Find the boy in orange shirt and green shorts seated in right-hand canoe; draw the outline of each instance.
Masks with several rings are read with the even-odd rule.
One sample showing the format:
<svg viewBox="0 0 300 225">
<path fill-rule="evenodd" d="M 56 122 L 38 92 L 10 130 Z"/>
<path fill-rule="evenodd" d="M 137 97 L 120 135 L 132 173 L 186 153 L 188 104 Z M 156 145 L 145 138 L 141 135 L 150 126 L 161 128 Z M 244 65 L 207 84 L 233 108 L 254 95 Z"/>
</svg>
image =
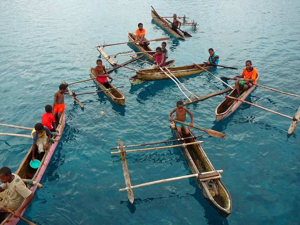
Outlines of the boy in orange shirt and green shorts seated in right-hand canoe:
<svg viewBox="0 0 300 225">
<path fill-rule="evenodd" d="M 245 65 L 246 67 L 244 68 L 242 75 L 232 77 L 233 80 L 235 80 L 237 77 L 243 78 L 243 80 L 236 80 L 234 83 L 236 91 L 238 92 L 238 96 L 241 96 L 240 85 L 243 88 L 242 92 L 246 91 L 248 88 L 253 86 L 253 82 L 257 76 L 257 71 L 254 67 L 252 67 L 252 62 L 250 60 L 247 60 Z"/>
</svg>

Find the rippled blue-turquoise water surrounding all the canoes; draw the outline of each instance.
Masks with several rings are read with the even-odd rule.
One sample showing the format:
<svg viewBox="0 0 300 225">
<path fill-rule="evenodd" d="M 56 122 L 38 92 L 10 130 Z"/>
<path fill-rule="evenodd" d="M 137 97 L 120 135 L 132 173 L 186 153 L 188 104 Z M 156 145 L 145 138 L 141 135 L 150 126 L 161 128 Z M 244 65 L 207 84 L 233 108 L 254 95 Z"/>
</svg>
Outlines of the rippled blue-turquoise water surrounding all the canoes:
<svg viewBox="0 0 300 225">
<path fill-rule="evenodd" d="M 152 1 L 161 16 L 186 13 L 198 28 L 183 27 L 193 37 L 167 41 L 169 58 L 176 66 L 208 58 L 208 48 L 220 55 L 216 76 L 239 75 L 250 59 L 261 75 L 259 83 L 299 94 L 299 1 Z M 140 3 L 134 2 L 137 6 Z M 131 1 L 1 1 L 0 81 L 1 123 L 33 127 L 44 106 L 52 104 L 61 80 L 68 83 L 89 78 L 95 66 L 97 43 L 125 42 L 143 22 L 146 37 L 168 37 L 151 18 L 150 3 L 137 10 Z M 208 7 L 209 6 L 209 7 Z M 155 49 L 161 43 L 152 42 Z M 107 46 L 108 54 L 131 52 L 129 45 Z M 119 62 L 128 56 L 119 57 Z M 290 64 L 289 64 L 290 63 Z M 110 65 L 105 63 L 106 67 Z M 143 62 L 128 65 L 148 67 Z M 44 188 L 24 217 L 38 224 L 299 224 L 299 134 L 287 135 L 290 119 L 242 104 L 230 117 L 215 122 L 216 96 L 187 106 L 194 125 L 227 134 L 225 139 L 203 134 L 202 144 L 232 197 L 232 214 L 221 217 L 205 201 L 194 179 L 134 189 L 128 203 L 122 166 L 110 148 L 118 138 L 125 145 L 172 140 L 168 113 L 184 100 L 169 80 L 131 86 L 134 71 L 111 73 L 113 85 L 124 85 L 125 107 L 102 93 L 78 96 L 82 110 L 65 96 L 66 127 L 43 176 Z M 207 73 L 181 79 L 192 92 L 206 95 L 223 89 Z M 76 93 L 97 91 L 94 82 L 70 86 Z M 293 116 L 298 98 L 257 87 L 247 101 Z M 101 114 L 104 111 L 104 114 Z M 1 132 L 28 134 L 1 127 Z M 31 146 L 30 139 L 0 137 L 0 166 L 13 171 Z M 127 155 L 131 183 L 190 174 L 179 148 Z M 20 221 L 19 224 L 26 224 Z"/>
</svg>

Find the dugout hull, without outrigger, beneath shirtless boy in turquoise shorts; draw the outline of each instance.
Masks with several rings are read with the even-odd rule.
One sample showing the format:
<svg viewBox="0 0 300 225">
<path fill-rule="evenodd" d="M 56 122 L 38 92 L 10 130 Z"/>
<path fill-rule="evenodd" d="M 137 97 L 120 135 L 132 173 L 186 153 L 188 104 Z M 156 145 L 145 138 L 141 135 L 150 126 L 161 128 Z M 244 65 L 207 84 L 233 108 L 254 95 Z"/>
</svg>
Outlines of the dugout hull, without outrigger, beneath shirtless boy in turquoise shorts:
<svg viewBox="0 0 300 225">
<path fill-rule="evenodd" d="M 174 117 L 176 119 L 176 117 Z M 172 123 L 174 135 L 177 139 L 181 138 Z M 190 130 L 190 129 L 189 129 Z M 183 132 L 184 133 L 184 132 Z M 195 136 L 190 130 L 187 137 Z M 186 139 L 186 143 L 196 142 L 196 138 Z M 178 141 L 179 144 L 183 144 L 182 140 Z M 187 162 L 188 167 L 192 174 L 203 173 L 209 171 L 215 171 L 213 165 L 209 161 L 200 144 L 193 144 L 180 147 L 182 154 Z M 231 196 L 226 189 L 225 185 L 220 180 L 220 176 L 216 176 L 211 180 L 201 181 L 199 176 L 194 177 L 200 191 L 202 192 L 205 200 L 223 217 L 228 217 L 231 214 L 232 200 Z"/>
</svg>

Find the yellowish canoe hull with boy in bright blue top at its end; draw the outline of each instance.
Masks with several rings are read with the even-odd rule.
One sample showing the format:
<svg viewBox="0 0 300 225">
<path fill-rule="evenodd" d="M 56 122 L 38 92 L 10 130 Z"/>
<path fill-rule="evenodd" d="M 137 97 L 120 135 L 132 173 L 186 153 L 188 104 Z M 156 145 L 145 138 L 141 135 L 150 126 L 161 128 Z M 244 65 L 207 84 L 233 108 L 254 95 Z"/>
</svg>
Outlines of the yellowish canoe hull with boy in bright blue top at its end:
<svg viewBox="0 0 300 225">
<path fill-rule="evenodd" d="M 202 64 L 198 64 L 199 66 L 203 67 Z M 204 67 L 206 70 L 210 69 L 211 66 Z M 200 69 L 199 67 L 196 67 L 195 65 L 187 65 L 187 66 L 175 66 L 175 67 L 169 67 L 168 68 L 174 76 L 183 77 L 183 76 L 189 76 L 195 73 L 203 72 L 204 70 Z M 168 71 L 164 69 L 166 73 Z M 165 73 L 163 73 L 160 69 L 143 69 L 137 71 L 137 77 L 140 80 L 163 80 L 163 79 L 170 79 Z"/>
</svg>

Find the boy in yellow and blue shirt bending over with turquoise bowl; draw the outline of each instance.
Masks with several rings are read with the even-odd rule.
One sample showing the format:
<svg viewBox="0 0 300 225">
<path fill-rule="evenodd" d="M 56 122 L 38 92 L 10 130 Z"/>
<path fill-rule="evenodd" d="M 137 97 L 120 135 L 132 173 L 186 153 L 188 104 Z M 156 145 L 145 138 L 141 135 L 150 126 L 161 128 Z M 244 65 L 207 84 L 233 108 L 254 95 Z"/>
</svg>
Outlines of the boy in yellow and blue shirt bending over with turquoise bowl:
<svg viewBox="0 0 300 225">
<path fill-rule="evenodd" d="M 41 161 L 44 156 L 45 150 L 48 150 L 49 148 L 51 132 L 42 123 L 37 123 L 35 124 L 35 128 L 31 132 L 31 137 L 33 139 L 33 143 L 31 146 L 32 160 L 35 160 L 35 148 L 38 146 L 38 158 L 39 161 Z"/>
</svg>

